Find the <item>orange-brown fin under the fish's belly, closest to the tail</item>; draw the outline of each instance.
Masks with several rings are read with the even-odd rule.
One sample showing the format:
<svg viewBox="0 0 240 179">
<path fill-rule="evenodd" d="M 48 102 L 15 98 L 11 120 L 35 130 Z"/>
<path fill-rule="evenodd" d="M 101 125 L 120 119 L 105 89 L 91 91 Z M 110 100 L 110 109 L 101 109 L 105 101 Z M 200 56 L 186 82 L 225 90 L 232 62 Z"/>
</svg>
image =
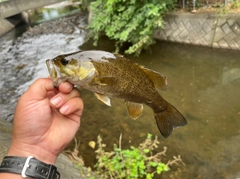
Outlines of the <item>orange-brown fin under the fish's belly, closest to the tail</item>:
<svg viewBox="0 0 240 179">
<path fill-rule="evenodd" d="M 137 119 L 141 116 L 143 111 L 143 105 L 139 103 L 126 101 L 126 106 L 128 108 L 128 113 L 133 119 Z"/>
</svg>

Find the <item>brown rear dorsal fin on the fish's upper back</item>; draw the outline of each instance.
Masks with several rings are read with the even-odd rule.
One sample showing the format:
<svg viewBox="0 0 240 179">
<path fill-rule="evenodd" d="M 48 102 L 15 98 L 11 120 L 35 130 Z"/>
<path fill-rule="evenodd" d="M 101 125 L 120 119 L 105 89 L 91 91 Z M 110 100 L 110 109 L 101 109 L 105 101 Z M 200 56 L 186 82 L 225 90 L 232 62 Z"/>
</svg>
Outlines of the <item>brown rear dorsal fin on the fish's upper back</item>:
<svg viewBox="0 0 240 179">
<path fill-rule="evenodd" d="M 150 69 L 141 67 L 142 70 L 151 78 L 155 88 L 160 90 L 167 90 L 167 77 L 161 73 L 152 71 Z"/>
</svg>

